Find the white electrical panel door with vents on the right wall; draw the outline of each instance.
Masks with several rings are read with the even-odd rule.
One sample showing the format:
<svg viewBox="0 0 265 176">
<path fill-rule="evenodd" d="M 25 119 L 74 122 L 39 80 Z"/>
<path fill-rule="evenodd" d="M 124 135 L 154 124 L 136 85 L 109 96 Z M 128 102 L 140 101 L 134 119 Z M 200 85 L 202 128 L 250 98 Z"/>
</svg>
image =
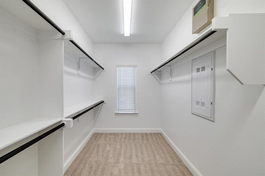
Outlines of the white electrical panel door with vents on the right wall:
<svg viewBox="0 0 265 176">
<path fill-rule="evenodd" d="M 191 113 L 214 121 L 215 52 L 192 61 Z"/>
</svg>

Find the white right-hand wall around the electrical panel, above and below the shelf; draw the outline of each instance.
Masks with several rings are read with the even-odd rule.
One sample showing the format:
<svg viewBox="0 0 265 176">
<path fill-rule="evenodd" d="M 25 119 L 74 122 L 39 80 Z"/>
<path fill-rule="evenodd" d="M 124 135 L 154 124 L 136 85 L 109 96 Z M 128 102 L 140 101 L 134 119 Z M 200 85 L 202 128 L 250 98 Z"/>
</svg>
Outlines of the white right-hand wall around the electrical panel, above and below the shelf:
<svg viewBox="0 0 265 176">
<path fill-rule="evenodd" d="M 191 34 L 191 5 L 162 43 L 163 60 L 198 34 Z M 215 16 L 264 13 L 265 1 L 215 1 Z M 175 66 L 219 48 L 223 40 Z M 191 62 L 162 74 L 161 127 L 203 176 L 265 174 L 264 85 L 241 85 L 226 71 L 226 47 L 216 50 L 215 122 L 191 114 Z"/>
</svg>

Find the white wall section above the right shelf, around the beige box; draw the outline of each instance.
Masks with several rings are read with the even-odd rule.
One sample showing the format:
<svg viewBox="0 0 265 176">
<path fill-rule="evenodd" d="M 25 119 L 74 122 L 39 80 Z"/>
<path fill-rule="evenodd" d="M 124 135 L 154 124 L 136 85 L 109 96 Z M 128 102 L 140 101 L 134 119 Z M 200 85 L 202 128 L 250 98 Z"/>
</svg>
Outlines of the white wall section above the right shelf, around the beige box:
<svg viewBox="0 0 265 176">
<path fill-rule="evenodd" d="M 198 0 L 195 0 L 189 9 L 184 13 L 176 26 L 172 29 L 169 35 L 162 42 L 163 56 L 160 62 L 169 59 L 171 56 L 178 53 L 186 45 L 191 43 L 195 38 L 209 29 L 211 25 L 206 27 L 198 34 L 192 34 L 192 8 Z M 215 0 L 214 1 L 214 17 L 226 16 L 229 13 L 264 13 L 264 0 Z M 159 62 L 157 63 L 159 64 Z"/>
</svg>

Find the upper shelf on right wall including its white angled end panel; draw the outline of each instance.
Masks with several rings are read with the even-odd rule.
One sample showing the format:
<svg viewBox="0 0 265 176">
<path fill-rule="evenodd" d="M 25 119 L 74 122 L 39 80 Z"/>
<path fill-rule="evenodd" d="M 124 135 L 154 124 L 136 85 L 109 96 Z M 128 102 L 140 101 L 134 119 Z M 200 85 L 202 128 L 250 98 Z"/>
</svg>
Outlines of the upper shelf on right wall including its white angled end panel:
<svg viewBox="0 0 265 176">
<path fill-rule="evenodd" d="M 225 36 L 226 70 L 241 84 L 265 84 L 265 13 L 213 18 L 210 29 L 151 73 L 161 71 Z"/>
</svg>

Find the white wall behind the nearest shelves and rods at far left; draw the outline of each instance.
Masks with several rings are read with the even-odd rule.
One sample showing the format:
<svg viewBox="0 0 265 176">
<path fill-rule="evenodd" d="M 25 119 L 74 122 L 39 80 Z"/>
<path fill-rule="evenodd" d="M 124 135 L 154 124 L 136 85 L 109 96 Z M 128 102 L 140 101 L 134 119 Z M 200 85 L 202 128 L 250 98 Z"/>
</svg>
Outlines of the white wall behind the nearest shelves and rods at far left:
<svg viewBox="0 0 265 176">
<path fill-rule="evenodd" d="M 36 29 L 0 6 L 0 129 L 38 116 L 38 40 L 33 34 Z M 0 156 L 35 137 L 0 150 Z M 28 156 L 30 160 L 23 161 Z M 0 164 L 0 175 L 37 174 L 38 144 Z"/>
</svg>

